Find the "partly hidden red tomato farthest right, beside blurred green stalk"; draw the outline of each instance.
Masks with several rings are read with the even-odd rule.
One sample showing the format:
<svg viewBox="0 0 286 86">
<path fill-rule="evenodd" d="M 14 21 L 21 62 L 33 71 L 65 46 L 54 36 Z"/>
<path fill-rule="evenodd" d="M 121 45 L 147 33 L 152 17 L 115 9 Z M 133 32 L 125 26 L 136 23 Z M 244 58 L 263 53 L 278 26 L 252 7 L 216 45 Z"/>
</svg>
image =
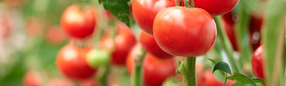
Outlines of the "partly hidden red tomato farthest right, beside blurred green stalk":
<svg viewBox="0 0 286 86">
<path fill-rule="evenodd" d="M 263 58 L 263 47 L 260 45 L 252 55 L 251 67 L 252 72 L 254 72 L 254 76 L 265 79 L 263 75 Z"/>
</svg>

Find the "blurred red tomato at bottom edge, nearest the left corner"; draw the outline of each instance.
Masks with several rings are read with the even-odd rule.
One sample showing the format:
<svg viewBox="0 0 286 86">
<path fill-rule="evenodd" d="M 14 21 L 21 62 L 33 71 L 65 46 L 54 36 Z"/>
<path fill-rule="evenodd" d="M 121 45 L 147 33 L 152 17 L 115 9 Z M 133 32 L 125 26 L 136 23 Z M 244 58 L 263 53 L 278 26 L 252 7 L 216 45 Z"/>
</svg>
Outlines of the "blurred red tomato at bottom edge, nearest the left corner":
<svg viewBox="0 0 286 86">
<path fill-rule="evenodd" d="M 39 72 L 28 71 L 23 77 L 24 86 L 40 86 L 41 85 L 41 75 Z"/>
</svg>

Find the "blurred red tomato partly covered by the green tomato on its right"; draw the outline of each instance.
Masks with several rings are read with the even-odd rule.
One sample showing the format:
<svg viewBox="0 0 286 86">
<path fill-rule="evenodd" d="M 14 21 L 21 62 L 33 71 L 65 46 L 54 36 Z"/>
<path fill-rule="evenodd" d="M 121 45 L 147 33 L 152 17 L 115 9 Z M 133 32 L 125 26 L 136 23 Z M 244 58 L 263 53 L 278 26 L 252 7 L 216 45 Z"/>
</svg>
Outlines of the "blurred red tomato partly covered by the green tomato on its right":
<svg viewBox="0 0 286 86">
<path fill-rule="evenodd" d="M 66 77 L 82 80 L 92 77 L 97 69 L 88 66 L 86 62 L 86 52 L 90 48 L 79 48 L 68 44 L 59 50 L 57 54 L 57 69 Z"/>
</svg>

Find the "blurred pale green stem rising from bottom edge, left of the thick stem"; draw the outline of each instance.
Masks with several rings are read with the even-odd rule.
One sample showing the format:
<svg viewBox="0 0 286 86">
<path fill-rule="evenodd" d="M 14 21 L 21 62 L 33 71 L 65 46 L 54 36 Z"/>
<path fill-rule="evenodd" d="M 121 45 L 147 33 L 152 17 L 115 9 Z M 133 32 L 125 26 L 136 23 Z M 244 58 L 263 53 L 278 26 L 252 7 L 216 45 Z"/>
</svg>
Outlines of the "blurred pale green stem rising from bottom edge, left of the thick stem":
<svg viewBox="0 0 286 86">
<path fill-rule="evenodd" d="M 134 58 L 135 66 L 133 71 L 133 79 L 131 81 L 132 86 L 142 86 L 143 83 L 143 61 L 146 55 L 146 51 L 141 48 L 141 54 Z"/>
</svg>

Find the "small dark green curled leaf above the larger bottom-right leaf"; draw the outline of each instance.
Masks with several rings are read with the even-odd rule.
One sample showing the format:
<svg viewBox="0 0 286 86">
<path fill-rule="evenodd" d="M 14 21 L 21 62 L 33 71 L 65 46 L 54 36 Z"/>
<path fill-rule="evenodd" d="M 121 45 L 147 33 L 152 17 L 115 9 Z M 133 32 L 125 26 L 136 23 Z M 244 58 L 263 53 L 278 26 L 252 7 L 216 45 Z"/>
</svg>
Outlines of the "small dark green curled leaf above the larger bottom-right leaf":
<svg viewBox="0 0 286 86">
<path fill-rule="evenodd" d="M 219 61 L 218 63 L 216 63 L 216 65 L 213 67 L 213 72 L 215 72 L 217 69 L 219 69 L 223 72 L 226 72 L 228 74 L 231 74 L 231 69 L 229 67 L 229 64 L 227 64 L 225 62 Z"/>
</svg>

